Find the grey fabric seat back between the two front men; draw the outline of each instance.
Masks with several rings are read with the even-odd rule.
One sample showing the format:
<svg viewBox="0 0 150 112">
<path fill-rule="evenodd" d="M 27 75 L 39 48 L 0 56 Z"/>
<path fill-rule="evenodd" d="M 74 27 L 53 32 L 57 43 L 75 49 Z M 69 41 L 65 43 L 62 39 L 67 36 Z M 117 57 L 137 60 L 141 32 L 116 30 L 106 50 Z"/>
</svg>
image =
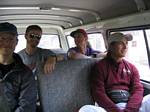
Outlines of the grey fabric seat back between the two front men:
<svg viewBox="0 0 150 112">
<path fill-rule="evenodd" d="M 67 60 L 56 64 L 51 74 L 39 67 L 38 83 L 43 112 L 77 112 L 94 104 L 90 91 L 90 72 L 96 60 Z"/>
</svg>

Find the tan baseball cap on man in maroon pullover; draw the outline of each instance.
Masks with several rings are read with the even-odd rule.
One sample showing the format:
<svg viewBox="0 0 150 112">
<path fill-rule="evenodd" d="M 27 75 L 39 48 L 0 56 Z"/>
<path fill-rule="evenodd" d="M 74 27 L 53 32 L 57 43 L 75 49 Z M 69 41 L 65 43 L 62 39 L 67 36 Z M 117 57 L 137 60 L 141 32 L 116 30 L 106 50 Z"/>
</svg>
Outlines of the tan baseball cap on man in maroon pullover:
<svg viewBox="0 0 150 112">
<path fill-rule="evenodd" d="M 111 44 L 112 42 L 122 41 L 123 39 L 131 41 L 133 37 L 131 34 L 123 34 L 120 32 L 116 32 L 110 35 L 110 37 L 108 38 L 108 44 Z"/>
</svg>

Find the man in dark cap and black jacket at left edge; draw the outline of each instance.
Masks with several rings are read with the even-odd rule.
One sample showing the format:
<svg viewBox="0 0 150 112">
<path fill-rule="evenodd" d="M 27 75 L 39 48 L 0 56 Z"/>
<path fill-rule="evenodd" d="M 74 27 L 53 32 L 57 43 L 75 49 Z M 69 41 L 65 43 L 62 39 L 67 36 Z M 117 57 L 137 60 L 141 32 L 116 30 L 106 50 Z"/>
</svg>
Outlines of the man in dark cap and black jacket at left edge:
<svg viewBox="0 0 150 112">
<path fill-rule="evenodd" d="M 32 71 L 14 53 L 15 25 L 0 23 L 0 112 L 35 112 L 36 83 Z"/>
</svg>

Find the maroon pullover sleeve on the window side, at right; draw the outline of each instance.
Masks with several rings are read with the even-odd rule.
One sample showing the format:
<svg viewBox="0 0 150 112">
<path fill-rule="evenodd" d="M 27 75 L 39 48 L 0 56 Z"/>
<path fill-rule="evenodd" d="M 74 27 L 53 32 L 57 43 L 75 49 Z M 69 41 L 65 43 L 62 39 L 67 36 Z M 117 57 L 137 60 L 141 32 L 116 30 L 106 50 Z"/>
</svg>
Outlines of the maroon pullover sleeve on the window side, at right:
<svg viewBox="0 0 150 112">
<path fill-rule="evenodd" d="M 143 86 L 140 83 L 139 73 L 135 66 L 132 65 L 132 79 L 130 86 L 130 98 L 127 103 L 125 112 L 139 112 L 143 99 Z"/>
</svg>

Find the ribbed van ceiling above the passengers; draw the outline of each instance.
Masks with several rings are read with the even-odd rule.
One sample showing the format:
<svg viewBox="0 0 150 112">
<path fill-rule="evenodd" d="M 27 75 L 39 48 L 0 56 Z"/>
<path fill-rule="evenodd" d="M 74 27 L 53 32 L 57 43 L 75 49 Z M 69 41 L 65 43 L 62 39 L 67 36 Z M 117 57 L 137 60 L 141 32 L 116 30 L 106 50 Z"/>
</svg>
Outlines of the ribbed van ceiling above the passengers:
<svg viewBox="0 0 150 112">
<path fill-rule="evenodd" d="M 1 0 L 0 22 L 68 29 L 149 9 L 150 0 Z"/>
</svg>

